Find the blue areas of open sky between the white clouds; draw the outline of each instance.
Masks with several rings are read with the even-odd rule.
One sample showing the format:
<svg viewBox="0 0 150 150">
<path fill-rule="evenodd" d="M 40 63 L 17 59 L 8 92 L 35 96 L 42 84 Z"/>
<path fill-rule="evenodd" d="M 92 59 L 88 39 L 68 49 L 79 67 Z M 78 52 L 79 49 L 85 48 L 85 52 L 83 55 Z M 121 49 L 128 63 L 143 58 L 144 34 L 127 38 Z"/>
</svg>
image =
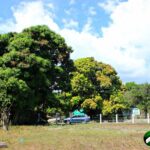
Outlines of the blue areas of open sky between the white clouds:
<svg viewBox="0 0 150 150">
<path fill-rule="evenodd" d="M 1 21 L 7 19 L 13 19 L 12 9 L 16 9 L 22 2 L 36 2 L 31 0 L 5 0 L 0 3 Z M 83 26 L 92 20 L 92 31 L 101 34 L 101 27 L 108 26 L 110 18 L 98 4 L 103 3 L 104 0 L 42 0 L 47 10 L 52 11 L 52 8 L 48 8 L 48 4 L 52 4 L 55 13 L 54 21 L 60 28 L 64 28 L 64 22 L 70 19 L 78 22 L 76 30 L 81 31 Z"/>
</svg>

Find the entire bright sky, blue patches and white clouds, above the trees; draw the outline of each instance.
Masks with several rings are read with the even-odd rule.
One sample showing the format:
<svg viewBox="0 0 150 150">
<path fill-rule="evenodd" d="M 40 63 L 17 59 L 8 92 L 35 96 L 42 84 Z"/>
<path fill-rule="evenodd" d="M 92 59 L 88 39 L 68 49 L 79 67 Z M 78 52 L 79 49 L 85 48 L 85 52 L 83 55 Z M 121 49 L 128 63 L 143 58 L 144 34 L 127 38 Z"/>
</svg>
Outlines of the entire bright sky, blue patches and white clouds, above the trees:
<svg viewBox="0 0 150 150">
<path fill-rule="evenodd" d="M 46 24 L 71 58 L 93 56 L 123 82 L 150 82 L 150 0 L 0 0 L 0 10 L 0 33 Z"/>
</svg>

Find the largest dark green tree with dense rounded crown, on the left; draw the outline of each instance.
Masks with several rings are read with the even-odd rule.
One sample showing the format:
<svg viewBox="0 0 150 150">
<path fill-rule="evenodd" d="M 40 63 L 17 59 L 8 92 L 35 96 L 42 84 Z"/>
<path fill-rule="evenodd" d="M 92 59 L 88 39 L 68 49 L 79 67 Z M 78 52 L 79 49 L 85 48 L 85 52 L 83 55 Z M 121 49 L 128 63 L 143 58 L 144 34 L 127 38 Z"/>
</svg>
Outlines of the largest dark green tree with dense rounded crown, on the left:
<svg viewBox="0 0 150 150">
<path fill-rule="evenodd" d="M 5 85 L 0 93 L 1 108 L 2 102 L 9 102 L 5 108 L 11 106 L 13 123 L 35 122 L 38 112 L 44 114 L 59 103 L 54 91 L 70 90 L 71 52 L 65 40 L 47 26 L 0 35 L 0 81 Z M 16 89 L 7 84 L 9 79 Z"/>
</svg>

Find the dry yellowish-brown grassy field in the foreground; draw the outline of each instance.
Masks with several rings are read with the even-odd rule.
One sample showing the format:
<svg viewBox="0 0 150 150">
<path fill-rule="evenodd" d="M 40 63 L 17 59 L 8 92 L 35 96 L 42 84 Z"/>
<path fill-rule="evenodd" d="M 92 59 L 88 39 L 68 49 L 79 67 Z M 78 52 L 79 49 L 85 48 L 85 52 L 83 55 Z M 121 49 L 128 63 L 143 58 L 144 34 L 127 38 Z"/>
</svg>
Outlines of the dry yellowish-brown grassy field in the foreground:
<svg viewBox="0 0 150 150">
<path fill-rule="evenodd" d="M 150 125 L 78 124 L 13 126 L 0 129 L 8 150 L 148 150 L 143 135 Z"/>
</svg>

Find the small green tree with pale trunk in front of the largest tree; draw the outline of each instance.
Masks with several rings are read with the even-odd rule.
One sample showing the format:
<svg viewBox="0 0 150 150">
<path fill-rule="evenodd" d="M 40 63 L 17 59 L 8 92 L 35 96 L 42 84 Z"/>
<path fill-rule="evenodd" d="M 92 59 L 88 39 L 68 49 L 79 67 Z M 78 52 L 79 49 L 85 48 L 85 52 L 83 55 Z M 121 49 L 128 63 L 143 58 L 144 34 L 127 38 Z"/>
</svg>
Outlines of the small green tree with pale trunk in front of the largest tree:
<svg viewBox="0 0 150 150">
<path fill-rule="evenodd" d="M 26 83 L 15 77 L 0 80 L 0 113 L 4 130 L 8 130 L 12 106 L 20 98 L 25 98 L 28 90 Z"/>
</svg>

